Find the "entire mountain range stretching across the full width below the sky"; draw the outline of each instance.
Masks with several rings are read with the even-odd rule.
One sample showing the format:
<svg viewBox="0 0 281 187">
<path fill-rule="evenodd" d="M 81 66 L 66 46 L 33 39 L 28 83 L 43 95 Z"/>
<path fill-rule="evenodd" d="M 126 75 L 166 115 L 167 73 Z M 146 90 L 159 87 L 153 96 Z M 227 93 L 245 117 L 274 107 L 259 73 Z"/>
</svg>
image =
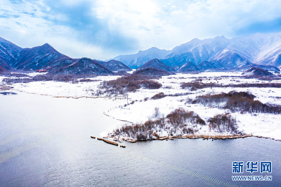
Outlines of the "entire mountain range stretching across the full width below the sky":
<svg viewBox="0 0 281 187">
<path fill-rule="evenodd" d="M 193 39 L 172 50 L 152 47 L 110 60 L 74 59 L 49 44 L 21 48 L 0 37 L 0 73 L 39 71 L 53 74 L 115 74 L 154 68 L 167 72 L 245 71 L 252 67 L 280 71 L 281 32 L 227 39 Z M 153 69 L 146 70 L 154 72 Z M 144 72 L 144 71 L 141 71 Z"/>
</svg>

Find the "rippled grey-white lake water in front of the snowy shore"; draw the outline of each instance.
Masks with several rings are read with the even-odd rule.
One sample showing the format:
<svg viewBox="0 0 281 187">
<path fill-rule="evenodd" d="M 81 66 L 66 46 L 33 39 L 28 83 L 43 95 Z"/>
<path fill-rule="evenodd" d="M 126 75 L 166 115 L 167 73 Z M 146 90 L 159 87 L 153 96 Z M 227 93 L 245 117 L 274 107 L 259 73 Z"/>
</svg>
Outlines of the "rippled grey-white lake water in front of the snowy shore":
<svg viewBox="0 0 281 187">
<path fill-rule="evenodd" d="M 0 95 L 0 186 L 281 186 L 278 141 L 91 139 L 121 124 L 102 114 L 118 102 Z M 272 161 L 273 180 L 232 181 L 232 161 Z"/>
</svg>

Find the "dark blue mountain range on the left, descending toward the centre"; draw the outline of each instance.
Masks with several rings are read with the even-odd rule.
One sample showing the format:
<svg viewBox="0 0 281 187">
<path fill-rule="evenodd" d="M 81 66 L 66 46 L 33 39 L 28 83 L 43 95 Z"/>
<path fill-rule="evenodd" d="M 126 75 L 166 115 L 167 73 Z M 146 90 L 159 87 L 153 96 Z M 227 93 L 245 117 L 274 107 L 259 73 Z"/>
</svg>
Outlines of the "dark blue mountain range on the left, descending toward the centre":
<svg viewBox="0 0 281 187">
<path fill-rule="evenodd" d="M 47 43 L 21 48 L 0 37 L 0 73 L 36 70 L 52 74 L 114 74 L 113 71 L 130 71 L 131 68 L 116 60 L 73 59 Z"/>
</svg>

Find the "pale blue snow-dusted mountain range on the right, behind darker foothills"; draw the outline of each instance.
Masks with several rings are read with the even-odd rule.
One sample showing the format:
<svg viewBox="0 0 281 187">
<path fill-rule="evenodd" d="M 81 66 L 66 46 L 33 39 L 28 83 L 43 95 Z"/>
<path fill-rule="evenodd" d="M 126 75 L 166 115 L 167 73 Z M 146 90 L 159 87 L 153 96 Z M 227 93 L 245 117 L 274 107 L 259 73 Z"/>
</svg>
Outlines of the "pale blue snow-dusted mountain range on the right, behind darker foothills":
<svg viewBox="0 0 281 187">
<path fill-rule="evenodd" d="M 252 63 L 281 68 L 281 32 L 256 33 L 233 39 L 224 36 L 204 40 L 195 38 L 172 50 L 152 47 L 137 54 L 119 55 L 113 59 L 136 68 L 154 58 L 175 69 L 180 69 L 186 63 L 199 65 L 204 61 L 219 62 L 225 68 L 239 68 Z"/>
</svg>

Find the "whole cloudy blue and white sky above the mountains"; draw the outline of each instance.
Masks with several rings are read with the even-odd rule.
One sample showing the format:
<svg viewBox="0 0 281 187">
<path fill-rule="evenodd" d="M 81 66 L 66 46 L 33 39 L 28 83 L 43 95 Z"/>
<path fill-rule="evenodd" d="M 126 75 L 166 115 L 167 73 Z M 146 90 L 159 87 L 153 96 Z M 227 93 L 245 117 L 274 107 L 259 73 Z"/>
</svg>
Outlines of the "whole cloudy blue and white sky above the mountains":
<svg viewBox="0 0 281 187">
<path fill-rule="evenodd" d="M 281 31 L 276 0 L 0 0 L 0 37 L 106 60 L 193 38 Z"/>
</svg>

